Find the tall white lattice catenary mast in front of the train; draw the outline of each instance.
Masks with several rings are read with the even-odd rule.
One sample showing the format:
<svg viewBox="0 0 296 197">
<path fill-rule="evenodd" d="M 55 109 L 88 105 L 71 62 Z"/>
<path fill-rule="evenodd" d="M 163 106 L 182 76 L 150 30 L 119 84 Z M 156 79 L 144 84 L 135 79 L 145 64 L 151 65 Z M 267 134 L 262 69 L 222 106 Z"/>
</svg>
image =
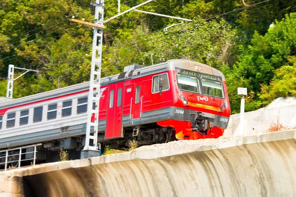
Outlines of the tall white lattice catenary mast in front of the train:
<svg viewBox="0 0 296 197">
<path fill-rule="evenodd" d="M 105 0 L 96 0 L 96 2 L 91 1 L 91 5 L 95 6 L 95 20 L 94 23 L 89 23 L 81 20 L 71 19 L 71 21 L 76 23 L 81 23 L 85 26 L 94 28 L 93 35 L 93 45 L 92 45 L 92 59 L 91 59 L 91 72 L 90 72 L 90 82 L 89 82 L 89 95 L 88 95 L 88 105 L 87 105 L 87 126 L 86 126 L 86 138 L 85 146 L 81 152 L 81 158 L 91 158 L 99 156 L 98 151 L 98 126 L 99 126 L 99 105 L 101 91 L 100 80 L 101 80 L 101 66 L 102 66 L 102 44 L 103 44 L 103 30 L 105 29 L 104 23 L 111 21 L 114 18 L 117 18 L 129 11 L 141 11 L 136 10 L 138 7 L 141 7 L 151 1 L 147 0 L 137 6 L 134 6 L 128 10 L 125 10 L 120 13 L 120 0 L 118 0 L 118 14 L 104 21 L 104 2 Z M 141 11 L 144 12 L 144 11 Z M 154 14 L 164 17 L 175 18 L 179 20 L 188 20 L 180 17 L 171 17 L 167 15 L 160 15 L 156 13 L 144 12 L 148 14 Z M 95 103 L 95 108 L 92 108 L 92 104 Z M 94 115 L 95 120 L 91 121 L 92 116 Z"/>
</svg>

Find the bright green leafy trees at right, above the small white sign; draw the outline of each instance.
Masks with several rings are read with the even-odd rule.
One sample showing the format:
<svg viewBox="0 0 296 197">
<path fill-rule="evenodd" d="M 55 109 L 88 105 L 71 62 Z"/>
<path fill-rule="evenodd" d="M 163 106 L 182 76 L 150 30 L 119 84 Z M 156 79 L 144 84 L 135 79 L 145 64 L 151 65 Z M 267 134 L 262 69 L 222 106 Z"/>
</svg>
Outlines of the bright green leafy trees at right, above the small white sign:
<svg viewBox="0 0 296 197">
<path fill-rule="evenodd" d="M 296 55 L 295 23 L 296 13 L 292 13 L 281 22 L 275 21 L 274 27 L 269 28 L 264 36 L 255 33 L 248 47 L 241 46 L 241 55 L 233 68 L 227 66 L 223 68 L 233 113 L 239 113 L 240 108 L 237 87 L 247 87 L 249 90 L 247 111 L 256 110 L 279 96 L 293 95 L 295 86 L 288 83 L 284 87 L 280 86 L 285 79 L 292 77 L 291 73 L 289 75 L 284 73 L 292 72 L 294 68 L 291 67 L 293 64 L 288 59 Z M 270 80 L 272 80 L 271 83 Z M 262 95 L 261 91 L 263 91 Z"/>
</svg>

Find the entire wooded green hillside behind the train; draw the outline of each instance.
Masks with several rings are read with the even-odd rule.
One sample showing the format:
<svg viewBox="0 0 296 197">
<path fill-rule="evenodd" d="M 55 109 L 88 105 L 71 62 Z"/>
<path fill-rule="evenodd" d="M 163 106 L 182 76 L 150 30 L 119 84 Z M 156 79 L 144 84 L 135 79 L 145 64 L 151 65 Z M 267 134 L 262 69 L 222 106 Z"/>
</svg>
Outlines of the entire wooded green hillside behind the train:
<svg viewBox="0 0 296 197">
<path fill-rule="evenodd" d="M 123 1 L 121 11 L 142 2 Z M 105 8 L 105 19 L 114 16 L 117 1 L 106 1 Z M 296 13 L 290 0 L 250 7 L 242 0 L 157 0 L 140 9 L 193 21 L 163 32 L 180 21 L 135 11 L 111 20 L 104 30 L 103 77 L 126 65 L 151 65 L 152 54 L 154 63 L 182 58 L 222 70 L 232 113 L 239 112 L 237 87 L 249 90 L 246 111 L 295 95 Z M 14 98 L 53 90 L 59 76 L 60 87 L 89 80 L 93 31 L 70 22 L 72 15 L 92 22 L 89 0 L 1 1 L 0 96 L 6 94 L 9 64 L 39 70 L 14 82 Z"/>
</svg>

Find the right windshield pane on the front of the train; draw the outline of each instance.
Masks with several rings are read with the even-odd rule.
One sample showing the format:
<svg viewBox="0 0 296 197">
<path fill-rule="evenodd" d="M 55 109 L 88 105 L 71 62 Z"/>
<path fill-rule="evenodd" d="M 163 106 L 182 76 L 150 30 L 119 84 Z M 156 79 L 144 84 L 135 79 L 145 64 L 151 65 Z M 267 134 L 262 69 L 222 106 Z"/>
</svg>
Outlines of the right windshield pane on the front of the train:
<svg viewBox="0 0 296 197">
<path fill-rule="evenodd" d="M 221 82 L 201 79 L 201 85 L 203 94 L 224 98 L 223 85 Z"/>
</svg>

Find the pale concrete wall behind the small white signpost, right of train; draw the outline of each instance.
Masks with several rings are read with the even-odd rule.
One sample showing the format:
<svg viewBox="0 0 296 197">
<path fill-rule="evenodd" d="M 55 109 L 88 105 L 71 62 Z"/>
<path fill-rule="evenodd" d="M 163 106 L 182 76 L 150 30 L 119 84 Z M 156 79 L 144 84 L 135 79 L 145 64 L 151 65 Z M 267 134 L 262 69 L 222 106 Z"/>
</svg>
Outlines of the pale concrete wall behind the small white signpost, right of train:
<svg viewBox="0 0 296 197">
<path fill-rule="evenodd" d="M 244 135 L 255 135 L 267 130 L 272 123 L 279 122 L 283 126 L 296 126 L 296 105 L 262 108 L 246 112 L 244 118 Z M 240 114 L 230 116 L 223 137 L 238 136 Z"/>
</svg>

